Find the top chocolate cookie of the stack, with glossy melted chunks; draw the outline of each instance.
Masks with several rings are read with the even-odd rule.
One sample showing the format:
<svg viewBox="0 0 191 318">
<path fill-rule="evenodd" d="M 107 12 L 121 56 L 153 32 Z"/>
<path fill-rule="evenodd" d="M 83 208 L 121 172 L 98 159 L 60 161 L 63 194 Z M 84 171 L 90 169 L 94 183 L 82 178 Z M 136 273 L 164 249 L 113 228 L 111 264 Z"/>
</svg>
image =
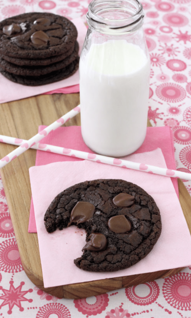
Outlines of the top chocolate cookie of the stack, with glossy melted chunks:
<svg viewBox="0 0 191 318">
<path fill-rule="evenodd" d="M 45 59 L 66 53 L 77 38 L 75 25 L 47 12 L 23 13 L 0 22 L 0 54 Z"/>
</svg>

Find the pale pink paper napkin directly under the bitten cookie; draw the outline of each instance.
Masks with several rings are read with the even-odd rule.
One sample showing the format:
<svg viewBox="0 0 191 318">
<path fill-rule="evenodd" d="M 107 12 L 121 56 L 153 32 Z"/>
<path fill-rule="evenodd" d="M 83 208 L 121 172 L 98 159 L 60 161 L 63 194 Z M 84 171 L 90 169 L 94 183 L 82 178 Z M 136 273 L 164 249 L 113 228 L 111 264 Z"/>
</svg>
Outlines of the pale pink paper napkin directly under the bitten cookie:
<svg viewBox="0 0 191 318">
<path fill-rule="evenodd" d="M 129 160 L 166 167 L 159 148 L 131 155 Z M 191 236 L 169 177 L 88 160 L 53 162 L 31 167 L 29 175 L 44 287 L 154 272 L 191 264 Z M 155 199 L 162 218 L 162 233 L 152 251 L 134 266 L 112 273 L 86 272 L 76 267 L 73 259 L 82 254 L 86 238 L 84 231 L 73 225 L 49 234 L 43 221 L 46 209 L 58 193 L 72 184 L 99 178 L 119 178 L 138 184 Z"/>
</svg>

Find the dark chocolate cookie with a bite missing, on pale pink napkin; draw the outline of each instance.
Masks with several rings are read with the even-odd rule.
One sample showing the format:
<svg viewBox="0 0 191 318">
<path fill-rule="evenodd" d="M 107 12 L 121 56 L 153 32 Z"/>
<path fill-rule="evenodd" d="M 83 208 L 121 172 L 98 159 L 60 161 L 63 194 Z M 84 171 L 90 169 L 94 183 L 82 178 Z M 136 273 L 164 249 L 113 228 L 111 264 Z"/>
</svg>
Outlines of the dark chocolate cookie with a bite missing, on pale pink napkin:
<svg viewBox="0 0 191 318">
<path fill-rule="evenodd" d="M 154 199 L 131 182 L 100 179 L 78 183 L 58 194 L 45 213 L 49 233 L 70 225 L 85 229 L 79 268 L 111 272 L 143 259 L 161 233 Z"/>
</svg>

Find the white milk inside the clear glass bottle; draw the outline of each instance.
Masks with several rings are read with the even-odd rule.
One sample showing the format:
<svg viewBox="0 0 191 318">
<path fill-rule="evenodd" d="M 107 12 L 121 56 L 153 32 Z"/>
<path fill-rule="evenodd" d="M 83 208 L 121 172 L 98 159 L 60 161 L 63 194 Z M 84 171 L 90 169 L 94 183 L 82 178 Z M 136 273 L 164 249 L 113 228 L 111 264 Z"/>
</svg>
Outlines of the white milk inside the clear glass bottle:
<svg viewBox="0 0 191 318">
<path fill-rule="evenodd" d="M 126 40 L 92 44 L 80 57 L 82 137 L 94 152 L 125 156 L 144 141 L 150 59 Z"/>
</svg>

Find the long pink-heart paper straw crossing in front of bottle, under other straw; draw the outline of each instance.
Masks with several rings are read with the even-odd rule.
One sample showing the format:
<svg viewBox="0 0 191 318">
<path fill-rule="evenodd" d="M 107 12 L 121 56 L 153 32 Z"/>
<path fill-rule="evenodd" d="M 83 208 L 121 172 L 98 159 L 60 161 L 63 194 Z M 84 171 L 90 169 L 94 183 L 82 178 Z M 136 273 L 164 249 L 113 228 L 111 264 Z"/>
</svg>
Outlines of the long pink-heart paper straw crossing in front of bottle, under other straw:
<svg viewBox="0 0 191 318">
<path fill-rule="evenodd" d="M 10 143 L 12 145 L 18 146 L 19 144 L 25 143 L 26 140 L 0 135 L 0 142 Z M 145 163 L 137 163 L 137 162 L 132 162 L 132 161 L 124 160 L 124 159 L 92 154 L 92 153 L 88 153 L 88 152 L 84 152 L 80 150 L 52 146 L 45 143 L 36 143 L 31 148 L 42 150 L 42 151 L 54 152 L 56 154 L 60 154 L 64 156 L 71 156 L 71 157 L 77 157 L 77 158 L 91 160 L 95 162 L 102 162 L 102 163 L 110 164 L 113 166 L 130 168 L 130 169 L 140 170 L 140 171 L 149 172 L 149 173 L 155 173 L 157 175 L 180 178 L 184 180 L 191 180 L 191 173 L 171 170 L 167 168 L 160 168 L 160 167 L 151 166 Z"/>
</svg>

